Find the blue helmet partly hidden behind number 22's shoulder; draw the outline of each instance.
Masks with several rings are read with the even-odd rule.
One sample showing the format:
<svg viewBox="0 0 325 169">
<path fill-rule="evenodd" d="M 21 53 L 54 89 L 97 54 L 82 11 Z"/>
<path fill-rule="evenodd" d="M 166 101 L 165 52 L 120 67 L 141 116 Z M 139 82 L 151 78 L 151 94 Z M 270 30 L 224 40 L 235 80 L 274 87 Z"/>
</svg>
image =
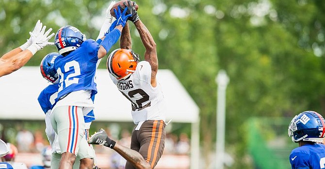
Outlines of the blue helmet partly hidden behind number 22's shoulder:
<svg viewBox="0 0 325 169">
<path fill-rule="evenodd" d="M 57 84 L 59 79 L 58 73 L 54 68 L 54 60 L 59 55 L 57 52 L 52 52 L 46 55 L 41 61 L 41 74 L 44 79 L 52 84 Z"/>
</svg>

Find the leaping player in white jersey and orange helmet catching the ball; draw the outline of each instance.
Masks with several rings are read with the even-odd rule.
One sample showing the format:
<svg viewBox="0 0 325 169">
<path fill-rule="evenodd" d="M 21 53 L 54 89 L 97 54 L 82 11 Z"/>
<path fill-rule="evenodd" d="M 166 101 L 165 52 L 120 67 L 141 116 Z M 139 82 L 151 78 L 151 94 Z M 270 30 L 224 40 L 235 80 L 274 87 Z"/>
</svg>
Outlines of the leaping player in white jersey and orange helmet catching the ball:
<svg viewBox="0 0 325 169">
<path fill-rule="evenodd" d="M 134 3 L 128 2 L 128 20 L 137 28 L 146 48 L 145 61 L 131 50 L 128 24 L 121 34 L 121 49 L 114 50 L 107 59 L 107 69 L 118 90 L 131 102 L 132 119 L 136 127 L 132 131 L 131 149 L 116 144 L 100 129 L 89 140 L 114 149 L 127 159 L 125 169 L 153 169 L 162 156 L 165 139 L 165 104 L 160 84 L 156 80 L 158 58 L 156 43 L 140 20 Z"/>
</svg>

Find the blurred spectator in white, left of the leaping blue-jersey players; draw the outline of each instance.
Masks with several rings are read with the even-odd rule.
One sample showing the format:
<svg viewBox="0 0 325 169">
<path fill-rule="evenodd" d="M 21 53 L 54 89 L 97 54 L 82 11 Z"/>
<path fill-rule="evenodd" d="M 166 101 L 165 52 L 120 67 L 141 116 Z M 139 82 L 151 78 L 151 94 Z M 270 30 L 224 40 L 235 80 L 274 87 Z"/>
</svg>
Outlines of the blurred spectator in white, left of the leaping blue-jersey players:
<svg viewBox="0 0 325 169">
<path fill-rule="evenodd" d="M 26 129 L 22 129 L 18 131 L 16 136 L 16 143 L 19 152 L 21 153 L 31 152 L 31 148 L 33 147 L 33 143 L 34 143 L 33 133 Z"/>
</svg>

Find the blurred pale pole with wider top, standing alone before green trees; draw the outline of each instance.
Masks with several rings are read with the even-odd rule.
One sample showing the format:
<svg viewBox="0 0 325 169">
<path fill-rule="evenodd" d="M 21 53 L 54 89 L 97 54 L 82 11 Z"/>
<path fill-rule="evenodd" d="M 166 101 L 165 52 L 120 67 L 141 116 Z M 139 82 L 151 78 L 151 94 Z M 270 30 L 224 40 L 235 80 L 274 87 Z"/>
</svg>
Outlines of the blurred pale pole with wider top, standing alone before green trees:
<svg viewBox="0 0 325 169">
<path fill-rule="evenodd" d="M 217 88 L 217 133 L 216 133 L 216 169 L 224 169 L 225 128 L 226 128 L 226 88 L 229 78 L 225 70 L 219 70 L 215 82 Z"/>
</svg>

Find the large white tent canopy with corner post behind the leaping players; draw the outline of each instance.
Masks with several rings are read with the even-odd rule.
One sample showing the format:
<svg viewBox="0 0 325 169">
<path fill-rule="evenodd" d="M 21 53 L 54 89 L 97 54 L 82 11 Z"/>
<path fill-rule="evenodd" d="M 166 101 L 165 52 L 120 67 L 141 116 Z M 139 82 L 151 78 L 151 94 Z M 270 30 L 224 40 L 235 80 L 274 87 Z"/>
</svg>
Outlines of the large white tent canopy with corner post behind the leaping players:
<svg viewBox="0 0 325 169">
<path fill-rule="evenodd" d="M 94 113 L 96 121 L 132 122 L 131 104 L 112 83 L 108 71 L 97 70 L 97 90 Z M 158 70 L 166 100 L 166 122 L 192 123 L 191 168 L 198 168 L 199 109 L 177 77 L 170 70 Z M 49 83 L 39 67 L 23 67 L 0 78 L 0 119 L 42 120 L 45 115 L 38 104 L 39 93 Z"/>
</svg>

